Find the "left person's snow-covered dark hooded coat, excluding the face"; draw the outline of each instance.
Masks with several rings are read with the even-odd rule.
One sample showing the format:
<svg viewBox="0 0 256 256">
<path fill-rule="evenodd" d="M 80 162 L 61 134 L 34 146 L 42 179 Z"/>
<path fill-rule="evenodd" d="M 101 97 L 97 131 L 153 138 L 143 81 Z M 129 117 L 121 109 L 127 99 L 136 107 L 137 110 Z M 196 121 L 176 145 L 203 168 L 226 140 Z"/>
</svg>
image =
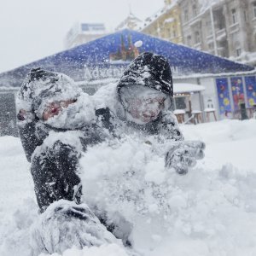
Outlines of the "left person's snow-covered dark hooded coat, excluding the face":
<svg viewBox="0 0 256 256">
<path fill-rule="evenodd" d="M 72 100 L 48 120 L 44 109 L 51 102 Z M 79 157 L 89 145 L 106 137 L 96 121 L 90 96 L 65 74 L 32 69 L 17 96 L 20 140 L 31 161 L 38 206 L 43 212 L 60 199 L 79 202 Z"/>
</svg>

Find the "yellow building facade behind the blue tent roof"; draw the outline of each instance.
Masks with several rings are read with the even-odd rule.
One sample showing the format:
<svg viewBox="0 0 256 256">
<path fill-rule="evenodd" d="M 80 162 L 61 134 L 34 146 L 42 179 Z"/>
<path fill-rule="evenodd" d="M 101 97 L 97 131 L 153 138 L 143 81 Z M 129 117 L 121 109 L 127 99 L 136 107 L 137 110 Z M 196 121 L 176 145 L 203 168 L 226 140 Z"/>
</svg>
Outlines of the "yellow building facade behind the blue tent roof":
<svg viewBox="0 0 256 256">
<path fill-rule="evenodd" d="M 175 44 L 183 43 L 180 9 L 176 1 L 165 0 L 165 7 L 144 20 L 139 30 Z"/>
</svg>

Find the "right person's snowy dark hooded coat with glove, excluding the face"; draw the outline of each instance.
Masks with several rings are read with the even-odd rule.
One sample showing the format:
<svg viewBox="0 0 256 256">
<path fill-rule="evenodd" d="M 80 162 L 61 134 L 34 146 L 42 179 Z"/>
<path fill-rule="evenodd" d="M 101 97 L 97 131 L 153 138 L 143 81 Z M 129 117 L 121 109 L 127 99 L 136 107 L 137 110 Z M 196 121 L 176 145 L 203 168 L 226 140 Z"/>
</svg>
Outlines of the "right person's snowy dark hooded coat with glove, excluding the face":
<svg viewBox="0 0 256 256">
<path fill-rule="evenodd" d="M 130 119 L 122 101 L 122 88 L 137 84 L 160 91 L 166 95 L 165 106 L 156 119 L 146 124 L 138 124 Z M 186 174 L 189 167 L 195 166 L 196 160 L 203 158 L 205 144 L 184 141 L 177 119 L 172 112 L 173 84 L 171 67 L 165 57 L 145 52 L 139 55 L 119 80 L 118 84 L 109 84 L 99 89 L 94 95 L 97 111 L 111 113 L 109 131 L 122 137 L 124 134 L 137 134 L 139 137 L 154 136 L 159 142 L 167 143 L 166 167 L 175 169 L 179 174 Z"/>
</svg>

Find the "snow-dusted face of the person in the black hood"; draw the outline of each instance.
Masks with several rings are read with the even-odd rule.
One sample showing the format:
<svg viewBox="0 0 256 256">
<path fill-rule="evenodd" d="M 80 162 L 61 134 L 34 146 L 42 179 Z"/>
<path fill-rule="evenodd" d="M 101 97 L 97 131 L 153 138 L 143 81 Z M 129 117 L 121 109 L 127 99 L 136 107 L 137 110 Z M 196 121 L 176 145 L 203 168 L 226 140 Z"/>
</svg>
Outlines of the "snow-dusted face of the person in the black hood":
<svg viewBox="0 0 256 256">
<path fill-rule="evenodd" d="M 160 111 L 164 108 L 165 99 L 163 96 L 130 99 L 127 111 L 133 119 L 148 123 L 157 119 Z"/>
</svg>

